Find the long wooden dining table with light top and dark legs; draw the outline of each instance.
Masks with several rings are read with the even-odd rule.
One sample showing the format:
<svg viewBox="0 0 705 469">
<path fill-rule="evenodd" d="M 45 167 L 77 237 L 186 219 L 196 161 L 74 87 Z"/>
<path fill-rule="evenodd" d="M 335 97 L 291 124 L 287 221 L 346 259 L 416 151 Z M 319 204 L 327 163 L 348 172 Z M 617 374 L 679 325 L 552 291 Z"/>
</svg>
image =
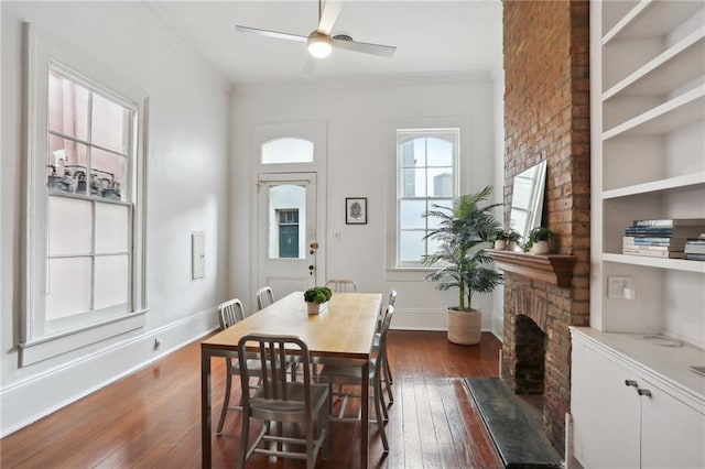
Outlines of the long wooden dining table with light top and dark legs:
<svg viewBox="0 0 705 469">
<path fill-rule="evenodd" d="M 294 292 L 200 343 L 200 419 L 203 467 L 212 465 L 212 357 L 235 357 L 238 340 L 248 334 L 293 335 L 312 357 L 343 359 L 362 369 L 360 467 L 369 465 L 369 363 L 382 295 L 334 293 L 327 308 L 308 315 L 303 292 Z M 245 450 L 245 448 L 240 448 Z"/>
</svg>

